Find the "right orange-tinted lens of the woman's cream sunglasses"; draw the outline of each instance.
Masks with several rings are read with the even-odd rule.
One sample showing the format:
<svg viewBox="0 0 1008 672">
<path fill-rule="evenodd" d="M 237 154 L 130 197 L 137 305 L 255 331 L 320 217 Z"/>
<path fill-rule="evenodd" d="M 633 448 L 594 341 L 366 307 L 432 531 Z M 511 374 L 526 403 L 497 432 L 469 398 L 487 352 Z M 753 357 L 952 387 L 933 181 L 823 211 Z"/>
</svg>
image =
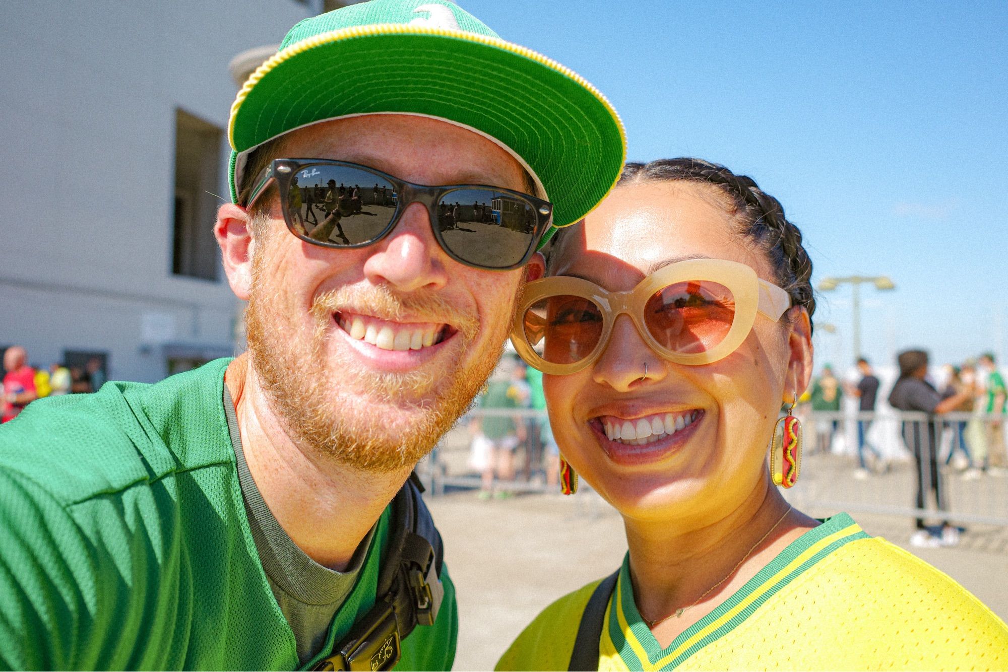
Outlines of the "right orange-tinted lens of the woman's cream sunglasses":
<svg viewBox="0 0 1008 672">
<path fill-rule="evenodd" d="M 732 292 L 707 280 L 668 285 L 644 306 L 644 322 L 655 341 L 683 355 L 704 353 L 720 344 L 734 319 Z"/>
</svg>

